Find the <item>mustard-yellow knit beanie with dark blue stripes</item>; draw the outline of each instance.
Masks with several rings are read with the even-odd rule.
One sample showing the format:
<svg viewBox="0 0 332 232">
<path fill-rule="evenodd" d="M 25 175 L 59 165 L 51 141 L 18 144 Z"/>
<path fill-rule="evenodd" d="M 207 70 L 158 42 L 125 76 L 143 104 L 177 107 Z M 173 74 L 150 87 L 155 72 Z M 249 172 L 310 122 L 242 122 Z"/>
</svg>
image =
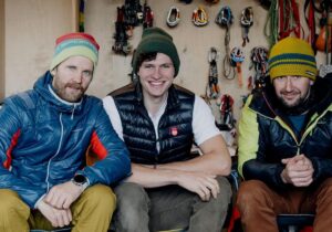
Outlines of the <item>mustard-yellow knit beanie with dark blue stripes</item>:
<svg viewBox="0 0 332 232">
<path fill-rule="evenodd" d="M 298 38 L 286 38 L 276 43 L 269 55 L 270 78 L 278 76 L 304 76 L 315 80 L 318 74 L 313 50 Z"/>
</svg>

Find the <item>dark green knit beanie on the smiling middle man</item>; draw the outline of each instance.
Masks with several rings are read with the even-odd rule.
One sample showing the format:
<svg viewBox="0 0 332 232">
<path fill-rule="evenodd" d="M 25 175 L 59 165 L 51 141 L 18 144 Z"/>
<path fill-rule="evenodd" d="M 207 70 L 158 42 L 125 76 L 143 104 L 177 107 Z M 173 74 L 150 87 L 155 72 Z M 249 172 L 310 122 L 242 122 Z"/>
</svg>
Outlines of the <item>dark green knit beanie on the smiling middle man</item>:
<svg viewBox="0 0 332 232">
<path fill-rule="evenodd" d="M 137 61 L 142 54 L 159 52 L 168 55 L 173 61 L 175 68 L 174 77 L 177 76 L 180 61 L 177 54 L 175 44 L 173 43 L 173 38 L 159 28 L 147 28 L 143 31 L 142 40 L 133 55 L 133 71 L 136 73 L 138 71 Z"/>
</svg>

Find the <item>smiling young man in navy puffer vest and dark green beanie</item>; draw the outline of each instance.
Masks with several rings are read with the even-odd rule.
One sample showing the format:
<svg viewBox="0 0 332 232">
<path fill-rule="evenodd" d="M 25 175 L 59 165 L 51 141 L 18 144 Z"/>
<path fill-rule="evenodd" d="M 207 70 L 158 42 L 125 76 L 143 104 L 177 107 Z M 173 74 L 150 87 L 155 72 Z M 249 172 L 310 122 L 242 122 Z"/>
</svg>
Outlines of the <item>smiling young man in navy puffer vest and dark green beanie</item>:
<svg viewBox="0 0 332 232">
<path fill-rule="evenodd" d="M 145 29 L 132 62 L 137 83 L 104 98 L 133 171 L 114 189 L 117 232 L 220 232 L 225 222 L 230 156 L 209 106 L 173 84 L 179 63 L 173 38 Z M 201 156 L 190 155 L 194 141 Z"/>
</svg>

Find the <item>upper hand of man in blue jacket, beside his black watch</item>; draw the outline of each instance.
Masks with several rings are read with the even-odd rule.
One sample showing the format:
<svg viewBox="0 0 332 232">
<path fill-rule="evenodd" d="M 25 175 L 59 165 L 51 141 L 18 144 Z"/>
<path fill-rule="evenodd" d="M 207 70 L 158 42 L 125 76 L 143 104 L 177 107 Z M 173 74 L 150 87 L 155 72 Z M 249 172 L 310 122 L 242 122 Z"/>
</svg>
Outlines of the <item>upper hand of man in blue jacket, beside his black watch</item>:
<svg viewBox="0 0 332 232">
<path fill-rule="evenodd" d="M 69 209 L 83 191 L 83 187 L 75 186 L 72 181 L 68 181 L 54 186 L 44 197 L 44 201 L 56 209 Z"/>
</svg>

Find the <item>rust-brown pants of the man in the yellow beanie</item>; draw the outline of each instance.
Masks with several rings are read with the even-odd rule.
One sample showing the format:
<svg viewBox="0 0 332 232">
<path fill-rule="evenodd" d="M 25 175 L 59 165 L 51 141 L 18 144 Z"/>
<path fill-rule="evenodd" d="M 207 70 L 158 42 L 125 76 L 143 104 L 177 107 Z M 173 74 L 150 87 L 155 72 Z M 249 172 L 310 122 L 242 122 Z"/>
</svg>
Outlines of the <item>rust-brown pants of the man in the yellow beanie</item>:
<svg viewBox="0 0 332 232">
<path fill-rule="evenodd" d="M 280 213 L 315 213 L 314 232 L 332 230 L 332 178 L 318 188 L 292 188 L 276 192 L 262 181 L 243 181 L 238 191 L 237 208 L 246 232 L 278 232 Z"/>
</svg>

